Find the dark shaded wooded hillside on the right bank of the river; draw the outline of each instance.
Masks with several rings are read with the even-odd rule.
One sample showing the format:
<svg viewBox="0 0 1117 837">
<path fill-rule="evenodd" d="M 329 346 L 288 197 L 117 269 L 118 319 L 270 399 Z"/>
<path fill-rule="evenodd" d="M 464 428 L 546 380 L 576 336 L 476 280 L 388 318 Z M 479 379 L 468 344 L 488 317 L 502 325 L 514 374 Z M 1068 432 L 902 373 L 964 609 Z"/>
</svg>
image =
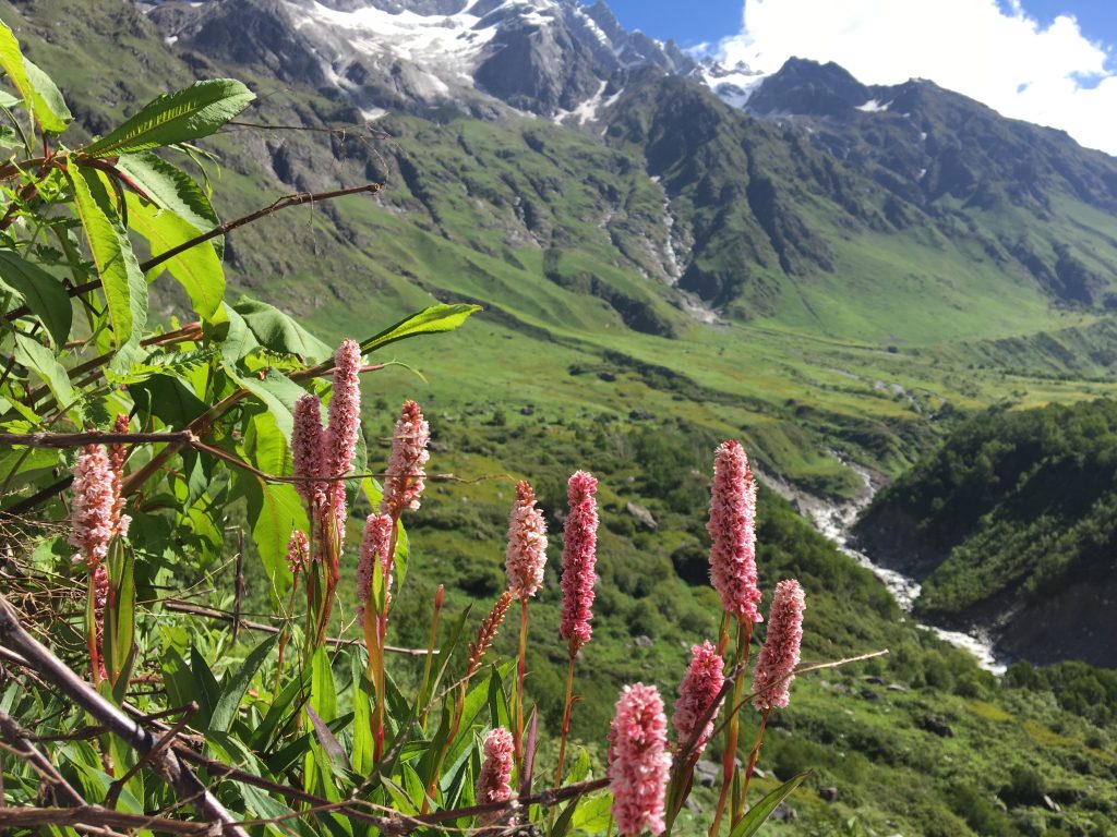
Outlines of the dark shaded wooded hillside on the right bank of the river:
<svg viewBox="0 0 1117 837">
<path fill-rule="evenodd" d="M 1013 655 L 1117 666 L 1117 403 L 982 415 L 858 525 L 923 579 L 917 612 Z"/>
</svg>

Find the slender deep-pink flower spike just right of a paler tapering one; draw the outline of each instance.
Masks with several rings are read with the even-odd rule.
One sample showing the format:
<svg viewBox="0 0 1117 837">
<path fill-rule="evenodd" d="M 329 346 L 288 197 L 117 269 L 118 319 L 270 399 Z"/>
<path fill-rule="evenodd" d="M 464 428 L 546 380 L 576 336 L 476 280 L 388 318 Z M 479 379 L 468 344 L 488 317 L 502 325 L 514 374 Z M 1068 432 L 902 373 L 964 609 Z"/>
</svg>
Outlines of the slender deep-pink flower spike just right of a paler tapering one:
<svg viewBox="0 0 1117 837">
<path fill-rule="evenodd" d="M 598 481 L 585 471 L 570 478 L 566 499 L 570 513 L 563 529 L 562 624 L 558 634 L 576 654 L 590 642 L 593 628 L 594 565 L 598 560 Z"/>
</svg>

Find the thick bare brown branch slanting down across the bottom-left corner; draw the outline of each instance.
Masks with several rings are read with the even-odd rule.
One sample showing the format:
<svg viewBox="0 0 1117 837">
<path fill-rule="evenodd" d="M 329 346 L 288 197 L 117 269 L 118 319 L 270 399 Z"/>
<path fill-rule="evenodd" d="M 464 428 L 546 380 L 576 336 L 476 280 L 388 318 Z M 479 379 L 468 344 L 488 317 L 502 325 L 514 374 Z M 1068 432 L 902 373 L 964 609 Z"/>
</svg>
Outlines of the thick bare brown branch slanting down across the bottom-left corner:
<svg viewBox="0 0 1117 837">
<path fill-rule="evenodd" d="M 156 742 L 147 730 L 102 698 L 88 683 L 56 657 L 49 648 L 23 629 L 19 623 L 19 615 L 3 596 L 0 596 L 0 637 L 3 637 L 18 654 L 26 657 L 55 689 L 66 694 L 74 703 L 131 747 L 141 753 L 147 753 L 154 749 Z M 228 809 L 179 760 L 173 750 L 159 753 L 151 760 L 151 767 L 174 788 L 181 799 L 190 800 L 198 808 L 199 814 L 218 824 L 226 834 L 233 837 L 248 837 L 248 833 L 237 825 L 237 820 Z"/>
</svg>

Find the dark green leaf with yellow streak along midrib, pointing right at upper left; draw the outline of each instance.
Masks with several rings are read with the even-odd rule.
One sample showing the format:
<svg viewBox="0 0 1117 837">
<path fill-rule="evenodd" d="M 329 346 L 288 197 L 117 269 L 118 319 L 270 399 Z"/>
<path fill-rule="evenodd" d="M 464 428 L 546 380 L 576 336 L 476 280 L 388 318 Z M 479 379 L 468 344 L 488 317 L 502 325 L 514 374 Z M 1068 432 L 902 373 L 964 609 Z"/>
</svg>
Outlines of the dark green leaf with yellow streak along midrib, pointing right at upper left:
<svg viewBox="0 0 1117 837">
<path fill-rule="evenodd" d="M 231 78 L 195 81 L 149 102 L 140 113 L 83 152 L 103 157 L 209 136 L 255 98 L 256 94 Z"/>
</svg>

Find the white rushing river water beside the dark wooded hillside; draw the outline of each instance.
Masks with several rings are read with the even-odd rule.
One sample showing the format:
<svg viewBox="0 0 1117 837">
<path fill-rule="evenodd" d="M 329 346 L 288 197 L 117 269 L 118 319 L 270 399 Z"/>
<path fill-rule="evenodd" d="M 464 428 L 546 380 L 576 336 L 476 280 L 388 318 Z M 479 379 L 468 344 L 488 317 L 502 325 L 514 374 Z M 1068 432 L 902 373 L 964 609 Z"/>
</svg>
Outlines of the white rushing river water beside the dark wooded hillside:
<svg viewBox="0 0 1117 837">
<path fill-rule="evenodd" d="M 871 570 L 884 583 L 885 587 L 888 588 L 888 591 L 892 594 L 900 608 L 905 613 L 911 613 L 911 607 L 919 597 L 919 583 L 914 578 L 905 576 L 903 573 L 881 567 L 868 555 L 850 546 L 849 532 L 853 527 L 853 522 L 857 520 L 858 514 L 872 501 L 872 497 L 877 492 L 877 487 L 872 481 L 872 475 L 863 468 L 859 468 L 850 462 L 844 462 L 843 464 L 853 469 L 865 482 L 865 492 L 857 500 L 848 503 L 832 503 L 815 497 L 804 497 L 798 491 L 791 490 L 791 493 L 794 494 L 793 499 L 798 501 L 800 510 L 806 514 L 822 535 L 832 540 L 842 552 L 866 569 Z M 787 496 L 789 487 L 774 484 L 777 481 L 771 479 L 766 479 L 765 482 L 781 494 Z M 932 632 L 955 647 L 968 651 L 977 658 L 977 664 L 982 668 L 997 676 L 1004 674 L 1008 663 L 1011 662 L 1000 656 L 994 651 L 991 638 L 982 633 L 967 634 L 962 631 L 946 631 L 945 628 L 924 624 L 919 624 L 919 627 Z"/>
</svg>

